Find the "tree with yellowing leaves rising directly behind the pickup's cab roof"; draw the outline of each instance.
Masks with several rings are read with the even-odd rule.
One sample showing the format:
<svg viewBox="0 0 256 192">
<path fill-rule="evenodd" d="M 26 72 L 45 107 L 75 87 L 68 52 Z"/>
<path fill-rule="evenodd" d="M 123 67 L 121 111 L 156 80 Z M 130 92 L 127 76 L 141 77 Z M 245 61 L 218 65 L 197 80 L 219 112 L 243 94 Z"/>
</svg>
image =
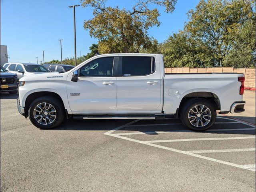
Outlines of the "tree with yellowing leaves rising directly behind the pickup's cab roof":
<svg viewBox="0 0 256 192">
<path fill-rule="evenodd" d="M 132 10 L 106 7 L 106 0 L 81 0 L 82 6 L 92 7 L 94 18 L 84 21 L 84 28 L 90 36 L 99 40 L 100 53 L 139 52 L 141 48 L 151 49 L 154 39 L 148 36 L 148 29 L 159 26 L 160 13 L 150 4 L 164 6 L 172 12 L 176 0 L 138 0 Z M 152 43 L 153 42 L 153 43 Z"/>
</svg>

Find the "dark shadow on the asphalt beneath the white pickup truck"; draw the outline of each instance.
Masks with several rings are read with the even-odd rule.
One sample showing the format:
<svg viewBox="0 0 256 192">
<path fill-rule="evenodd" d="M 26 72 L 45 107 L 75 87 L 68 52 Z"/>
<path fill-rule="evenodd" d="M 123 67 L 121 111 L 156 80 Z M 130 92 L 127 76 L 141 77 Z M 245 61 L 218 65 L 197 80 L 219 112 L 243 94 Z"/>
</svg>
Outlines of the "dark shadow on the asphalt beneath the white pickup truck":
<svg viewBox="0 0 256 192">
<path fill-rule="evenodd" d="M 248 117 L 249 118 L 249 117 Z M 252 117 L 255 118 L 255 117 Z M 123 126 L 133 120 L 64 120 L 60 126 L 54 130 L 78 130 L 78 131 L 109 131 L 119 126 Z M 232 122 L 232 123 L 230 123 Z M 140 120 L 124 126 L 118 133 L 143 132 L 145 134 L 158 134 L 158 132 L 193 132 L 185 127 L 180 119 L 168 120 Z M 116 133 L 117 133 L 116 132 Z M 243 123 L 234 123 L 232 120 L 217 119 L 217 123 L 206 131 L 211 134 L 248 134 L 255 135 L 255 126 Z"/>
</svg>

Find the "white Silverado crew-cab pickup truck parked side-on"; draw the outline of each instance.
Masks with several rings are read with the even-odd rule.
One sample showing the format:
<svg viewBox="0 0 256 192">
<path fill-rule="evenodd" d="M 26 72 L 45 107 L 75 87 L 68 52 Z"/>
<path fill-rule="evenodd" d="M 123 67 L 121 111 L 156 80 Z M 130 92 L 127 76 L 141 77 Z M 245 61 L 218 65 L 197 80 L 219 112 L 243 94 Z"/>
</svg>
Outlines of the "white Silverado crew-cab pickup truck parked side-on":
<svg viewBox="0 0 256 192">
<path fill-rule="evenodd" d="M 64 118 L 157 119 L 173 116 L 196 131 L 216 110 L 244 111 L 244 74 L 165 74 L 160 54 L 103 54 L 68 72 L 20 79 L 18 110 L 49 129 Z"/>
</svg>

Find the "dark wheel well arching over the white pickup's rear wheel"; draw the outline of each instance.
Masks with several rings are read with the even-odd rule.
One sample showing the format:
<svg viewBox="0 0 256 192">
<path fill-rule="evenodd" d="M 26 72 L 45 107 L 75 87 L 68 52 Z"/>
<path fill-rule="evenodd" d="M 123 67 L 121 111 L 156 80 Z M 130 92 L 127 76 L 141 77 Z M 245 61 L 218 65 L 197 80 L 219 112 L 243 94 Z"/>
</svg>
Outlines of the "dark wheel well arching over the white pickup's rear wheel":
<svg viewBox="0 0 256 192">
<path fill-rule="evenodd" d="M 214 93 L 211 92 L 193 92 L 193 93 L 189 93 L 186 96 L 184 96 L 180 102 L 180 106 L 179 109 L 182 108 L 182 106 L 190 99 L 192 98 L 203 98 L 208 100 L 209 102 L 211 102 L 212 104 L 214 104 L 214 106 L 216 107 L 216 110 L 220 110 L 220 100 L 218 98 L 218 96 Z M 180 113 L 180 110 L 178 110 L 178 114 Z M 178 116 L 176 116 L 178 117 Z"/>
</svg>

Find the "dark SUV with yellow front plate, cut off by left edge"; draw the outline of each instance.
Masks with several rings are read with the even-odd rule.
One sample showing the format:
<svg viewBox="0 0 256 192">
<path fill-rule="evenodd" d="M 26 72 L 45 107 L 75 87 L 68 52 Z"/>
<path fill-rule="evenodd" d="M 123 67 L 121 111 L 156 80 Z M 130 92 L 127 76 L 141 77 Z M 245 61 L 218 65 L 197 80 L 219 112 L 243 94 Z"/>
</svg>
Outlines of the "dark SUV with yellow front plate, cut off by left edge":
<svg viewBox="0 0 256 192">
<path fill-rule="evenodd" d="M 18 92 L 19 78 L 16 74 L 9 73 L 1 66 L 1 92 L 16 94 Z"/>
</svg>

